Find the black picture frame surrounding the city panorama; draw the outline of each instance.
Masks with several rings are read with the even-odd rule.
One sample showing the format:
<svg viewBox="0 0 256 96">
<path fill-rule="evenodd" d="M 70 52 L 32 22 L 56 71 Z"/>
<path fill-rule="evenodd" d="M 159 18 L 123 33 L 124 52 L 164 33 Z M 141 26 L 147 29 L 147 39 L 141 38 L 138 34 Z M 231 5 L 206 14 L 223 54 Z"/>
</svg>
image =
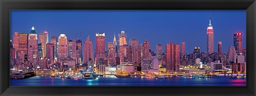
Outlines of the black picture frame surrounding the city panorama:
<svg viewBox="0 0 256 96">
<path fill-rule="evenodd" d="M 247 86 L 10 86 L 10 10 L 246 10 Z M 255 0 L 0 0 L 1 95 L 255 95 Z"/>
</svg>

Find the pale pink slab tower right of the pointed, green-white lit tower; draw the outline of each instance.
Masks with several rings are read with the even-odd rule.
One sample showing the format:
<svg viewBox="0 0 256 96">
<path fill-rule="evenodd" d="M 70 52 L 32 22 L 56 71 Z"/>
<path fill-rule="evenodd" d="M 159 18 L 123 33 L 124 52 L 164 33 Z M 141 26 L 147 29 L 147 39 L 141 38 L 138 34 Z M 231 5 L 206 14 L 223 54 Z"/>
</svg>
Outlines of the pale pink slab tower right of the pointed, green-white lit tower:
<svg viewBox="0 0 256 96">
<path fill-rule="evenodd" d="M 48 43 L 48 32 L 39 33 L 39 43 L 42 43 L 43 58 L 46 57 L 46 43 Z"/>
</svg>

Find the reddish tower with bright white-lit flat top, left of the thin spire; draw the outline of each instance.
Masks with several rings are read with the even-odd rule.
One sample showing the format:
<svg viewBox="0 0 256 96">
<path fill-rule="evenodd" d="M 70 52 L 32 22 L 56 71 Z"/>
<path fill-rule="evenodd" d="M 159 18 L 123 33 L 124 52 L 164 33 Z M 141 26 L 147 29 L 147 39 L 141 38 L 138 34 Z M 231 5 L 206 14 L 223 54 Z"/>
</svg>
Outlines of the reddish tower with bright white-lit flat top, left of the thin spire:
<svg viewBox="0 0 256 96">
<path fill-rule="evenodd" d="M 95 50 L 95 61 L 100 58 L 105 59 L 105 33 L 96 33 L 96 50 Z"/>
</svg>

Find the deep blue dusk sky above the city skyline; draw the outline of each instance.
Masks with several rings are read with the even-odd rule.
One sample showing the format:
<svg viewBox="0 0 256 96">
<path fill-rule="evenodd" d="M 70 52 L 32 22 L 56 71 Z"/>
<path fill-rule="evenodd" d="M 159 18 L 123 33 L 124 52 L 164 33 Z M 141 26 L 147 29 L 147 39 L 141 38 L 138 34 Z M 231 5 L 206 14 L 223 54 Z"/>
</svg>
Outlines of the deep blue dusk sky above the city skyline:
<svg viewBox="0 0 256 96">
<path fill-rule="evenodd" d="M 206 29 L 209 25 L 209 10 L 26 10 L 11 11 L 11 39 L 14 32 L 29 33 L 35 27 L 39 33 L 46 30 L 50 37 L 59 37 L 65 33 L 68 39 L 73 39 L 81 33 L 82 43 L 90 36 L 95 48 L 95 33 L 105 32 L 105 48 L 107 42 L 113 42 L 114 32 L 124 29 L 127 42 L 137 38 L 139 44 L 149 40 L 150 49 L 155 50 L 156 44 L 174 42 L 181 45 L 186 42 L 187 54 L 194 47 L 206 51 Z M 243 48 L 246 48 L 246 11 L 222 10 L 211 11 L 214 30 L 214 51 L 217 51 L 218 41 L 222 41 L 222 51 L 227 53 L 233 46 L 233 34 L 243 33 Z M 94 50 L 93 50 L 94 53 Z"/>
</svg>

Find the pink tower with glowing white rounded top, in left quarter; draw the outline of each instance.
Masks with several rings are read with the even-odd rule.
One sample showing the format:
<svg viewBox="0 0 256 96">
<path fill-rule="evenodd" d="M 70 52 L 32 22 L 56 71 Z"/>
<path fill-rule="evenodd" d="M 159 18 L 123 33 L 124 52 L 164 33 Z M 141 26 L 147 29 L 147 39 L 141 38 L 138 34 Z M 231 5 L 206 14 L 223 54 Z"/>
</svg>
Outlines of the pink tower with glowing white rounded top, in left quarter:
<svg viewBox="0 0 256 96">
<path fill-rule="evenodd" d="M 58 49 L 58 57 L 67 58 L 68 57 L 68 43 L 66 34 L 60 34 L 59 36 L 59 49 Z"/>
</svg>

